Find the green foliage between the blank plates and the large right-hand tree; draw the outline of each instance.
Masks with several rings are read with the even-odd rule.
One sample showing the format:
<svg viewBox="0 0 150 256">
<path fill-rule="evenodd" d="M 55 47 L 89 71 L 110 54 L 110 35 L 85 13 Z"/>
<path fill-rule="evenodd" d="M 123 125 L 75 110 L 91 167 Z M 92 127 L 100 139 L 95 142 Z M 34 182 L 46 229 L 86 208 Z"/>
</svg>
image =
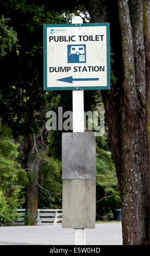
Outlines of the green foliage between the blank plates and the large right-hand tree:
<svg viewBox="0 0 150 256">
<path fill-rule="evenodd" d="M 115 209 L 120 208 L 120 192 L 118 189 L 116 171 L 112 153 L 108 150 L 107 138 L 99 137 L 96 159 L 96 218 L 97 220 L 112 220 Z M 106 150 L 107 149 L 107 150 Z"/>
</svg>

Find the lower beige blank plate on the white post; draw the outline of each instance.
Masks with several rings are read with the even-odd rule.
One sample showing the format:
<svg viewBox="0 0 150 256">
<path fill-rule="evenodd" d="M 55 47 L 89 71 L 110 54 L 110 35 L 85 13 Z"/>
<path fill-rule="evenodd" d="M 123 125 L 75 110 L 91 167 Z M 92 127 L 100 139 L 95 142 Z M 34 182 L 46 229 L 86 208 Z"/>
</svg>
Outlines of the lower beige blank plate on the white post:
<svg viewBox="0 0 150 256">
<path fill-rule="evenodd" d="M 95 228 L 96 181 L 62 181 L 62 228 Z"/>
</svg>

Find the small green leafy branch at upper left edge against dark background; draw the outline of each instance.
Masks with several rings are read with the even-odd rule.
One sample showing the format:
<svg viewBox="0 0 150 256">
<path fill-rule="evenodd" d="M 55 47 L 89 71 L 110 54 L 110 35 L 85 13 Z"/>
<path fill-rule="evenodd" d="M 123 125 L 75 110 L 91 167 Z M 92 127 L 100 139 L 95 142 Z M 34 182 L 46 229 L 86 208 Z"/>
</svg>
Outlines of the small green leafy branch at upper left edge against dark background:
<svg viewBox="0 0 150 256">
<path fill-rule="evenodd" d="M 4 19 L 4 16 L 0 19 L 0 56 L 3 57 L 7 54 L 7 51 L 11 52 L 12 47 L 16 46 L 16 53 L 18 54 L 17 33 L 12 30 L 12 27 L 8 26 L 10 19 Z"/>
</svg>

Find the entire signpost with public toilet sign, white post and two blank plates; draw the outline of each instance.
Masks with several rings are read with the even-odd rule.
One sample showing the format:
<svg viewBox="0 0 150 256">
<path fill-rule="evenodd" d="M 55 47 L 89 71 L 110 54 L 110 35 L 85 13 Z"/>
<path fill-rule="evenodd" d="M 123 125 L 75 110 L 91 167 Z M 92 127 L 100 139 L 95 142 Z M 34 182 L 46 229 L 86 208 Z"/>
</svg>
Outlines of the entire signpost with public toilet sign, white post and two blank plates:
<svg viewBox="0 0 150 256">
<path fill-rule="evenodd" d="M 96 152 L 84 133 L 84 90 L 110 89 L 109 23 L 44 25 L 44 89 L 72 90 L 73 133 L 62 133 L 62 227 L 85 245 L 95 228 Z M 73 220 L 72 220 L 73 218 Z"/>
</svg>

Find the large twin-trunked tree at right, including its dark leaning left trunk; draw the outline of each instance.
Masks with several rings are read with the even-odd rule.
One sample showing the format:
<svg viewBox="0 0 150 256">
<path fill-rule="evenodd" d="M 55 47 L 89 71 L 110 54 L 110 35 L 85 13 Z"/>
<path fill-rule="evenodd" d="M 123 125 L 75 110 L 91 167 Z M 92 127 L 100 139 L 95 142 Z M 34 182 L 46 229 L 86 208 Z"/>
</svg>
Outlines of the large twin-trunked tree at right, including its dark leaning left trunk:
<svg viewBox="0 0 150 256">
<path fill-rule="evenodd" d="M 89 2 L 92 22 L 110 22 L 110 50 L 117 62 L 118 82 L 111 82 L 111 93 L 103 90 L 102 97 L 121 192 L 123 245 L 144 245 L 148 241 L 148 176 L 142 0 Z"/>
</svg>

